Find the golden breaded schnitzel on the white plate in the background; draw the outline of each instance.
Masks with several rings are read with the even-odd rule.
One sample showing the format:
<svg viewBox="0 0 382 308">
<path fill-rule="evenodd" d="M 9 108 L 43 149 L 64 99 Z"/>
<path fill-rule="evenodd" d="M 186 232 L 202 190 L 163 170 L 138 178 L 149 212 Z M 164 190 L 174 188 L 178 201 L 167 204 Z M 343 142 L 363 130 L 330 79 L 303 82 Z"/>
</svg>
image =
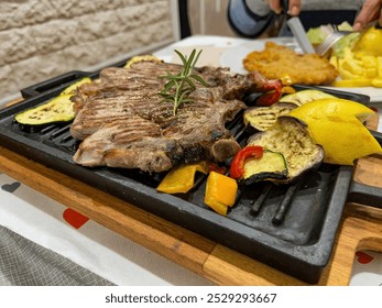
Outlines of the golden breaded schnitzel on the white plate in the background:
<svg viewBox="0 0 382 308">
<path fill-rule="evenodd" d="M 269 79 L 281 79 L 283 85 L 329 85 L 339 75 L 328 59 L 317 54 L 297 54 L 273 42 L 266 42 L 262 52 L 248 54 L 243 66 Z"/>
</svg>

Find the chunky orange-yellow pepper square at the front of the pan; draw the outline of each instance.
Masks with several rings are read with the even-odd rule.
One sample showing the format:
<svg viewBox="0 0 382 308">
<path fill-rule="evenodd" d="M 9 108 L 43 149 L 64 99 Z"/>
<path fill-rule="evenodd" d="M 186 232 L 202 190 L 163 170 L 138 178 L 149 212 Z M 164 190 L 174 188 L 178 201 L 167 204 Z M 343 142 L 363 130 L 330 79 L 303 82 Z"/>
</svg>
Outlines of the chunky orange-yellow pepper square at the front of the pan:
<svg viewBox="0 0 382 308">
<path fill-rule="evenodd" d="M 205 204 L 214 211 L 227 216 L 228 208 L 233 207 L 238 193 L 236 179 L 211 172 L 207 178 Z"/>
</svg>

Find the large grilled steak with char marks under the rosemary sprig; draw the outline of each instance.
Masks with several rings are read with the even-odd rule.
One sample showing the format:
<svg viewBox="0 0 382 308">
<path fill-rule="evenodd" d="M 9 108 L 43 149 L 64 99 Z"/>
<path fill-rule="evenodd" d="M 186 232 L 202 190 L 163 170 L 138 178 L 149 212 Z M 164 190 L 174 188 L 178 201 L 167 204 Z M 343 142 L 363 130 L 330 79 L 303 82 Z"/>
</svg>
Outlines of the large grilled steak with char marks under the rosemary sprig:
<svg viewBox="0 0 382 308">
<path fill-rule="evenodd" d="M 73 97 L 76 118 L 70 127 L 84 140 L 74 161 L 84 166 L 168 170 L 181 163 L 225 161 L 240 150 L 225 128 L 245 108 L 247 92 L 262 90 L 259 74 L 231 75 L 225 68 L 196 69 L 209 87 L 196 85 L 193 101 L 173 112 L 159 91 L 175 64 L 140 62 L 130 68 L 106 68 L 98 80 L 83 85 Z"/>
</svg>

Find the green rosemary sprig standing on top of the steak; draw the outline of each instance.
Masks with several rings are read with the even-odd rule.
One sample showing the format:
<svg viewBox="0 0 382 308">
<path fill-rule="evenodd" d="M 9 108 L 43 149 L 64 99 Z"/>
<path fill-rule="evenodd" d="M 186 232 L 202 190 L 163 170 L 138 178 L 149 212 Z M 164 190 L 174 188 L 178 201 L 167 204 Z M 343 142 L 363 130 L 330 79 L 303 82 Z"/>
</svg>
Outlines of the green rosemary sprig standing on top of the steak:
<svg viewBox="0 0 382 308">
<path fill-rule="evenodd" d="M 201 50 L 197 54 L 196 50 L 193 50 L 188 59 L 178 51 L 175 51 L 175 53 L 182 59 L 183 69 L 178 74 L 172 74 L 167 72 L 167 75 L 160 76 L 160 78 L 168 79 L 168 81 L 159 92 L 163 97 L 163 100 L 161 102 L 168 101 L 173 103 L 174 116 L 176 114 L 177 108 L 182 103 L 193 101 L 193 99 L 190 99 L 188 96 L 196 88 L 194 80 L 200 82 L 205 87 L 209 86 L 200 76 L 193 74 L 195 64 L 200 56 Z"/>
</svg>

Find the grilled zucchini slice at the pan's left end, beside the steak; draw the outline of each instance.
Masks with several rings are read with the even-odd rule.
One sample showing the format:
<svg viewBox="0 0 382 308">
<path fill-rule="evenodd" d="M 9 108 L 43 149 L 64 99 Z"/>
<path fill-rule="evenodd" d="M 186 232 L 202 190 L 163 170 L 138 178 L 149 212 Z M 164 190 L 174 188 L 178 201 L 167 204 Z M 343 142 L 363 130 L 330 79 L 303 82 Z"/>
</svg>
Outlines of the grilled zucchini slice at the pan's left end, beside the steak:
<svg viewBox="0 0 382 308">
<path fill-rule="evenodd" d="M 64 95 L 15 114 L 14 120 L 24 128 L 25 125 L 45 125 L 53 122 L 67 122 L 72 121 L 74 116 L 70 95 Z"/>
</svg>

